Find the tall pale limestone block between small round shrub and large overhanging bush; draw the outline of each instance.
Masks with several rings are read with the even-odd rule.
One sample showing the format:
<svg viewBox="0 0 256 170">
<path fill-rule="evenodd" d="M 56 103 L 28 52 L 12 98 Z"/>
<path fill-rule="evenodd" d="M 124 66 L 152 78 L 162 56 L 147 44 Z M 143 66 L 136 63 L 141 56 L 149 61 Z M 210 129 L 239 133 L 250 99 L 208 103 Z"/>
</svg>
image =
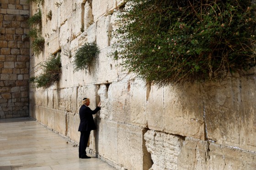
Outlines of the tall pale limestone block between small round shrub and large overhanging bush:
<svg viewBox="0 0 256 170">
<path fill-rule="evenodd" d="M 96 43 L 100 50 L 110 46 L 112 25 L 110 23 L 111 15 L 102 16 L 97 22 Z"/>
</svg>

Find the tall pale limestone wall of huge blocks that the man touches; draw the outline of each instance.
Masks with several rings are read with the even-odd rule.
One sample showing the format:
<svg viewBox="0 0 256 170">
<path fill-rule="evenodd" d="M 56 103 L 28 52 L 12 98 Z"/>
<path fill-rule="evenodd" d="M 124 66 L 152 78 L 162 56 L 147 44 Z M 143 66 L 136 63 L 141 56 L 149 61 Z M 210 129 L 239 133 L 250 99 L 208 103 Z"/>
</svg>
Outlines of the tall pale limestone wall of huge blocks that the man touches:
<svg viewBox="0 0 256 170">
<path fill-rule="evenodd" d="M 44 0 L 43 52 L 31 52 L 30 76 L 51 53 L 61 52 L 62 75 L 43 90 L 30 86 L 30 116 L 79 141 L 79 108 L 101 101 L 90 151 L 117 169 L 252 170 L 256 163 L 256 77 L 157 88 L 134 78 L 108 57 L 123 0 Z M 46 15 L 52 10 L 51 21 Z M 84 31 L 82 32 L 82 29 Z M 96 41 L 100 54 L 90 72 L 73 72 L 76 50 Z M 71 54 L 71 57 L 70 55 Z M 254 73 L 254 70 L 252 70 Z"/>
</svg>

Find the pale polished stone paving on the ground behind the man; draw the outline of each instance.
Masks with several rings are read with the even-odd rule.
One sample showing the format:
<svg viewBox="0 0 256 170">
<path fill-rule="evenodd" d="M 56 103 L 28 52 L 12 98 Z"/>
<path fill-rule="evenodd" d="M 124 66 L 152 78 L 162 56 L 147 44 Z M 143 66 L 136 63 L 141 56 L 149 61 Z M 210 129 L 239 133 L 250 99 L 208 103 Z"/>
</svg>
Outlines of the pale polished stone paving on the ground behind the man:
<svg viewBox="0 0 256 170">
<path fill-rule="evenodd" d="M 31 118 L 0 119 L 0 170 L 115 170 Z"/>
</svg>

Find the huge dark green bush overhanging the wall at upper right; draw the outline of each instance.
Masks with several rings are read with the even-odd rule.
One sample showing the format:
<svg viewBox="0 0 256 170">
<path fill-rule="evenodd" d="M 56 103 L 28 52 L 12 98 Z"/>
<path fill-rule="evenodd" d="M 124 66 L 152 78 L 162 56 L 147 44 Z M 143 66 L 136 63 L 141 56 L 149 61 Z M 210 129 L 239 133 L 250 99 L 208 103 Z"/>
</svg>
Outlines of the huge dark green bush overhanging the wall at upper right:
<svg viewBox="0 0 256 170">
<path fill-rule="evenodd" d="M 256 65 L 252 0 L 127 1 L 112 56 L 148 82 L 218 80 Z"/>
</svg>

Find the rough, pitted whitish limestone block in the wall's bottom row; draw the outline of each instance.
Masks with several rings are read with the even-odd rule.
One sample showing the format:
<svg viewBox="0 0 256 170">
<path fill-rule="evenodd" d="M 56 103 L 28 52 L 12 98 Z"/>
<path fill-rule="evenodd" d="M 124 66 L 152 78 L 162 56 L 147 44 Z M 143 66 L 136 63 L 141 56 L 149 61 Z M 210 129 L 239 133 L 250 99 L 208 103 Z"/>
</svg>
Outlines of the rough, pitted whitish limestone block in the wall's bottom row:
<svg viewBox="0 0 256 170">
<path fill-rule="evenodd" d="M 178 155 L 181 153 L 181 137 L 148 130 L 144 134 L 146 148 L 154 162 L 149 170 L 177 170 Z"/>
</svg>

